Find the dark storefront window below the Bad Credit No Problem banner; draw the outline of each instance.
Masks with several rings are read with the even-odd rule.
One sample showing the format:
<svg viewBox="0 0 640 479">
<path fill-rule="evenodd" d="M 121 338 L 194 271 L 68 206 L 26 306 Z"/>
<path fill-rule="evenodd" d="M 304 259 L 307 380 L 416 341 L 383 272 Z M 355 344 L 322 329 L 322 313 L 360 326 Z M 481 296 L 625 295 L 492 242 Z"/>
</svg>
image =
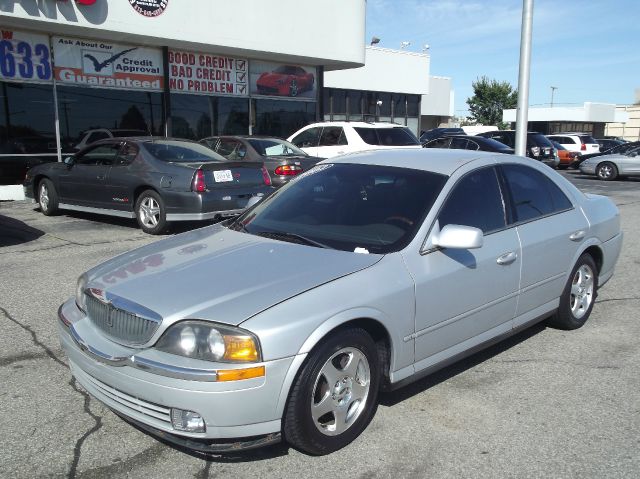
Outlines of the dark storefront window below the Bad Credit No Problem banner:
<svg viewBox="0 0 640 479">
<path fill-rule="evenodd" d="M 199 140 L 249 133 L 249 100 L 203 95 L 171 95 L 171 136 Z"/>
</svg>

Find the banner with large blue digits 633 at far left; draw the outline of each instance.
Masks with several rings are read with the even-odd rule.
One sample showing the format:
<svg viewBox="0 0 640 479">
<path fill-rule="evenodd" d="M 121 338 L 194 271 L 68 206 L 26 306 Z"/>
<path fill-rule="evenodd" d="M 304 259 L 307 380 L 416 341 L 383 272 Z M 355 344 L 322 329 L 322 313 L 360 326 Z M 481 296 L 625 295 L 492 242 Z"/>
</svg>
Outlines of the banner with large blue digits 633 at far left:
<svg viewBox="0 0 640 479">
<path fill-rule="evenodd" d="M 51 83 L 49 37 L 36 33 L 2 30 L 0 39 L 0 79 Z"/>
</svg>

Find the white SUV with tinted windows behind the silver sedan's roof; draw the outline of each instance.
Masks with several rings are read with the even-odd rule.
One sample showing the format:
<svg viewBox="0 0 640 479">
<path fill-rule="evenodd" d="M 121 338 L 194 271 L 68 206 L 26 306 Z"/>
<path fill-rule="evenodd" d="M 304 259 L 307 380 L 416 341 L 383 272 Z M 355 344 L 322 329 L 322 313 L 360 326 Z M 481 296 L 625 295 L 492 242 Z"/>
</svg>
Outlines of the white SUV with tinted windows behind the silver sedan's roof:
<svg viewBox="0 0 640 479">
<path fill-rule="evenodd" d="M 296 131 L 287 140 L 307 154 L 323 158 L 383 148 L 422 148 L 409 128 L 395 123 L 312 123 Z"/>
</svg>

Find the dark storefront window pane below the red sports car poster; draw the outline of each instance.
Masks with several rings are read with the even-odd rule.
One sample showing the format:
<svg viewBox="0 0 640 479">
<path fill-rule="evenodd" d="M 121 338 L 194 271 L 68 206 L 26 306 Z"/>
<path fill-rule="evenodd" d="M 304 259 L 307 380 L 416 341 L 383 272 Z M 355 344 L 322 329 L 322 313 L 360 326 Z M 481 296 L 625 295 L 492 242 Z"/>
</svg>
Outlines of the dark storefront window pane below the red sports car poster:
<svg viewBox="0 0 640 479">
<path fill-rule="evenodd" d="M 316 104 L 308 101 L 254 100 L 254 135 L 287 138 L 316 121 Z"/>
</svg>

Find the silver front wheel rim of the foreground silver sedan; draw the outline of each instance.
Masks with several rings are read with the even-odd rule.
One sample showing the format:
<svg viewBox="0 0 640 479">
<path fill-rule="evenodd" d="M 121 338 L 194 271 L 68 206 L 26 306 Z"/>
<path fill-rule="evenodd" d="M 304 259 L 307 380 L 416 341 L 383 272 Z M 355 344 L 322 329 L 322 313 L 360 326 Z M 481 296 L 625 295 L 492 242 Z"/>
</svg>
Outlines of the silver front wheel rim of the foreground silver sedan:
<svg viewBox="0 0 640 479">
<path fill-rule="evenodd" d="M 349 429 L 364 411 L 371 374 L 366 356 L 356 348 L 344 348 L 331 356 L 316 378 L 311 396 L 311 417 L 327 436 Z"/>
</svg>

